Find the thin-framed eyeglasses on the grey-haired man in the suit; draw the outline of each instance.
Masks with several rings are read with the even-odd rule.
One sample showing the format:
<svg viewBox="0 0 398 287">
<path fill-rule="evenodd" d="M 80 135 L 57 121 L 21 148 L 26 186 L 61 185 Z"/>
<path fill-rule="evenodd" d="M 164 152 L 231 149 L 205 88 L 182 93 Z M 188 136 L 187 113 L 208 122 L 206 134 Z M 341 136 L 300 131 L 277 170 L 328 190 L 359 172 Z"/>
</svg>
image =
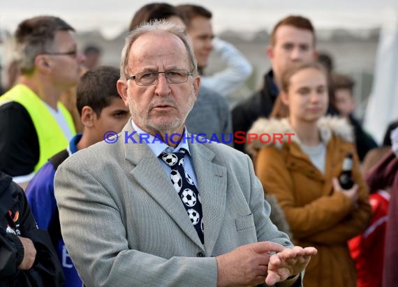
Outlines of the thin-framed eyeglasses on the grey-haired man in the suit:
<svg viewBox="0 0 398 287">
<path fill-rule="evenodd" d="M 187 70 L 168 70 L 164 72 L 139 72 L 134 76 L 126 77 L 126 79 L 135 80 L 138 86 L 151 86 L 157 84 L 159 74 L 164 74 L 169 84 L 180 84 L 188 81 L 188 76 L 193 75 Z"/>
</svg>

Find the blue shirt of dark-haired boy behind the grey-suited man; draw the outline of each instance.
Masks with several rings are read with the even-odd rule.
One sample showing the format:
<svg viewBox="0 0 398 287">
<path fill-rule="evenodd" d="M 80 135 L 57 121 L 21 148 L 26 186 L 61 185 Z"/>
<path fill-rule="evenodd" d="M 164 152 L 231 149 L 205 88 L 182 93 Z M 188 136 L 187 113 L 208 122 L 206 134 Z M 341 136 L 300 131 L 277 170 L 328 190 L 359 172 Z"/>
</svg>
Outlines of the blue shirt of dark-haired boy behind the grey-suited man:
<svg viewBox="0 0 398 287">
<path fill-rule="evenodd" d="M 76 134 L 69 142 L 67 148 L 69 156 L 78 151 L 77 144 L 82 134 Z M 57 201 L 54 196 L 55 169 L 51 162 L 46 162 L 29 183 L 26 194 L 31 211 L 36 219 L 38 228 L 48 230 L 57 215 Z M 59 261 L 65 275 L 65 287 L 81 287 L 82 280 L 72 263 L 62 238 L 55 246 Z"/>
</svg>

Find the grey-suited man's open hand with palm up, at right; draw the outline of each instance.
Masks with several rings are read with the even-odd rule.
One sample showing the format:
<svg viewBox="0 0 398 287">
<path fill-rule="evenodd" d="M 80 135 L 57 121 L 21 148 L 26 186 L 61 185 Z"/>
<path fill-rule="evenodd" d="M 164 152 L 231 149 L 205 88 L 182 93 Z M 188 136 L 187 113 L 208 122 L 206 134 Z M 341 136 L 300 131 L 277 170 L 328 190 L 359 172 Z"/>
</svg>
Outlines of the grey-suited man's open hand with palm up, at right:
<svg viewBox="0 0 398 287">
<path fill-rule="evenodd" d="M 289 276 L 301 273 L 307 267 L 311 256 L 318 252 L 314 247 L 302 248 L 295 246 L 293 249 L 283 249 L 274 254 L 268 263 L 268 274 L 265 284 L 274 285 L 285 281 Z"/>
</svg>

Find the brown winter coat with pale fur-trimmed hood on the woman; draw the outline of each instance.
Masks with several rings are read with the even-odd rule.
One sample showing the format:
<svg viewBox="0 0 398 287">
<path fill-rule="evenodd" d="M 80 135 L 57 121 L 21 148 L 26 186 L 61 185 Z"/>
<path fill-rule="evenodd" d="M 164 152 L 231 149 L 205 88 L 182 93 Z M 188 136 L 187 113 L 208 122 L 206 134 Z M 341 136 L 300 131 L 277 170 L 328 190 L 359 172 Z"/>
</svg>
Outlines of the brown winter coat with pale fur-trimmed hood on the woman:
<svg viewBox="0 0 398 287">
<path fill-rule="evenodd" d="M 355 267 L 347 240 L 364 231 L 371 218 L 367 187 L 360 173 L 351 127 L 338 118 L 318 121 L 326 145 L 325 174 L 320 173 L 300 148 L 300 139 L 282 143 L 255 141 L 247 149 L 264 190 L 277 197 L 293 233 L 295 245 L 313 246 L 318 254 L 305 271 L 304 286 L 356 286 Z M 294 132 L 287 119 L 258 120 L 249 133 Z M 353 153 L 353 178 L 359 188 L 358 208 L 340 192 L 333 192 L 332 178 L 339 176 L 344 157 Z"/>
</svg>

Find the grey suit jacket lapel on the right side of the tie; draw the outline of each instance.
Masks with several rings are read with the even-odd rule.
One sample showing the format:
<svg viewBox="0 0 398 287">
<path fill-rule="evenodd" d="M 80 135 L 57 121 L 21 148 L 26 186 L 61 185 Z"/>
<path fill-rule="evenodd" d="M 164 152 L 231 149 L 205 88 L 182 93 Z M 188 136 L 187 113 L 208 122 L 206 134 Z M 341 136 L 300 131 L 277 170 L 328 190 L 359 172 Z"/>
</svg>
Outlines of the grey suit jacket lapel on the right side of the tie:
<svg viewBox="0 0 398 287">
<path fill-rule="evenodd" d="M 227 169 L 214 164 L 216 156 L 205 144 L 189 144 L 202 198 L 205 249 L 212 254 L 226 210 Z"/>
</svg>

